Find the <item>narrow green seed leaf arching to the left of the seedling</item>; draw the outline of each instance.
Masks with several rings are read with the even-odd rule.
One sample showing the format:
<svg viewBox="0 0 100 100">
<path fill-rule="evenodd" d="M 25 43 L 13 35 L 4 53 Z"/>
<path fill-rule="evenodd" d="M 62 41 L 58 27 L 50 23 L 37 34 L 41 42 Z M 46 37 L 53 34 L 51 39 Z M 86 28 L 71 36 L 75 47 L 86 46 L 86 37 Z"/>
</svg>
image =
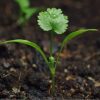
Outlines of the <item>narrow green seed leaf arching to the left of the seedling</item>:
<svg viewBox="0 0 100 100">
<path fill-rule="evenodd" d="M 8 40 L 8 41 L 0 42 L 0 44 L 7 44 L 7 43 L 20 43 L 20 44 L 24 44 L 27 46 L 31 46 L 32 48 L 35 48 L 42 55 L 47 65 L 49 65 L 46 55 L 44 54 L 40 46 L 38 46 L 36 43 L 28 41 L 28 40 L 23 40 L 23 39 Z"/>
</svg>

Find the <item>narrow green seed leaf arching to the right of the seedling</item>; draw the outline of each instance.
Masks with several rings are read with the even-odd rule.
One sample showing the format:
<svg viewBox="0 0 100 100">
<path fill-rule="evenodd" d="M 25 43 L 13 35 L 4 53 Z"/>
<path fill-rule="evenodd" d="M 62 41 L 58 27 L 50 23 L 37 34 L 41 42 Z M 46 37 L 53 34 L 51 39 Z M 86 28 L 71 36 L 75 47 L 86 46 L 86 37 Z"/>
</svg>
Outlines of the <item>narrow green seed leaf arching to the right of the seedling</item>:
<svg viewBox="0 0 100 100">
<path fill-rule="evenodd" d="M 70 33 L 68 36 L 65 37 L 65 39 L 63 40 L 62 44 L 61 44 L 61 48 L 64 47 L 64 45 L 66 43 L 68 43 L 70 40 L 72 40 L 73 38 L 79 36 L 79 35 L 82 35 L 83 33 L 85 32 L 88 32 L 88 31 L 97 31 L 97 29 L 79 29 L 78 31 L 75 31 L 75 32 L 72 32 Z"/>
</svg>

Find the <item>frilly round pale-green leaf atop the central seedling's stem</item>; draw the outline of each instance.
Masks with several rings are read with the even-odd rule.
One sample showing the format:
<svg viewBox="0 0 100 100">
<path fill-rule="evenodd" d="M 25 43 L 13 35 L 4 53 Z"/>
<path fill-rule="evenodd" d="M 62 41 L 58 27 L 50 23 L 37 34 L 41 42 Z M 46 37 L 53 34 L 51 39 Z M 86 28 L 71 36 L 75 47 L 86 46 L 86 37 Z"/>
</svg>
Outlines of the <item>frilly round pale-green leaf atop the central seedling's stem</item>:
<svg viewBox="0 0 100 100">
<path fill-rule="evenodd" d="M 68 16 L 64 16 L 61 9 L 48 8 L 39 13 L 38 24 L 44 31 L 63 34 L 68 28 Z"/>
</svg>

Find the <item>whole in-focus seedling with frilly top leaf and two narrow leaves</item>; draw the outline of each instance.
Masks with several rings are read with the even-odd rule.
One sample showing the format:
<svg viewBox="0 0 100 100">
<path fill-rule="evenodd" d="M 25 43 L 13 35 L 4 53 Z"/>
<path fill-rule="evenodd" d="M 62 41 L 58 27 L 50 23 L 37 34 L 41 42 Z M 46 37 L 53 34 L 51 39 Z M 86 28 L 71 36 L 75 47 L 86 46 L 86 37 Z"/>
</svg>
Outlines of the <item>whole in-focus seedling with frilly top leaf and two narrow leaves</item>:
<svg viewBox="0 0 100 100">
<path fill-rule="evenodd" d="M 52 88 L 51 93 L 54 95 L 55 93 L 55 74 L 56 74 L 56 68 L 59 62 L 60 53 L 62 52 L 64 46 L 66 43 L 68 43 L 73 38 L 82 35 L 85 32 L 88 31 L 97 31 L 96 29 L 79 29 L 75 32 L 69 33 L 65 39 L 61 43 L 61 49 L 59 50 L 58 56 L 55 58 L 53 55 L 53 37 L 54 34 L 61 35 L 68 29 L 68 17 L 63 15 L 61 9 L 56 8 L 48 8 L 44 12 L 40 12 L 38 16 L 38 24 L 41 29 L 44 31 L 50 31 L 50 56 L 47 57 L 44 53 L 44 51 L 41 49 L 39 45 L 37 45 L 34 42 L 23 40 L 23 39 L 16 39 L 16 40 L 8 40 L 1 42 L 0 44 L 6 44 L 6 43 L 20 43 L 25 44 L 28 46 L 31 46 L 32 48 L 36 49 L 44 58 L 45 62 L 47 63 L 49 70 L 50 70 L 50 76 L 52 79 Z"/>
</svg>

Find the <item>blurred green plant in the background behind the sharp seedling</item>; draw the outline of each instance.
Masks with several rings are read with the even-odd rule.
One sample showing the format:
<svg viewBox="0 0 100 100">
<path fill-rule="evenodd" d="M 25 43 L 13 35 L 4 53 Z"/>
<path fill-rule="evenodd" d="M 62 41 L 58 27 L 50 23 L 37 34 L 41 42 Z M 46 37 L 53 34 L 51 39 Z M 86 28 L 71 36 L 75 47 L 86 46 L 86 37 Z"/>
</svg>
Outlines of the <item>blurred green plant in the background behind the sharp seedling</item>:
<svg viewBox="0 0 100 100">
<path fill-rule="evenodd" d="M 33 14 L 38 11 L 38 8 L 31 8 L 29 0 L 15 0 L 20 7 L 20 17 L 18 19 L 18 24 L 23 25 L 27 20 L 29 20 Z"/>
</svg>

